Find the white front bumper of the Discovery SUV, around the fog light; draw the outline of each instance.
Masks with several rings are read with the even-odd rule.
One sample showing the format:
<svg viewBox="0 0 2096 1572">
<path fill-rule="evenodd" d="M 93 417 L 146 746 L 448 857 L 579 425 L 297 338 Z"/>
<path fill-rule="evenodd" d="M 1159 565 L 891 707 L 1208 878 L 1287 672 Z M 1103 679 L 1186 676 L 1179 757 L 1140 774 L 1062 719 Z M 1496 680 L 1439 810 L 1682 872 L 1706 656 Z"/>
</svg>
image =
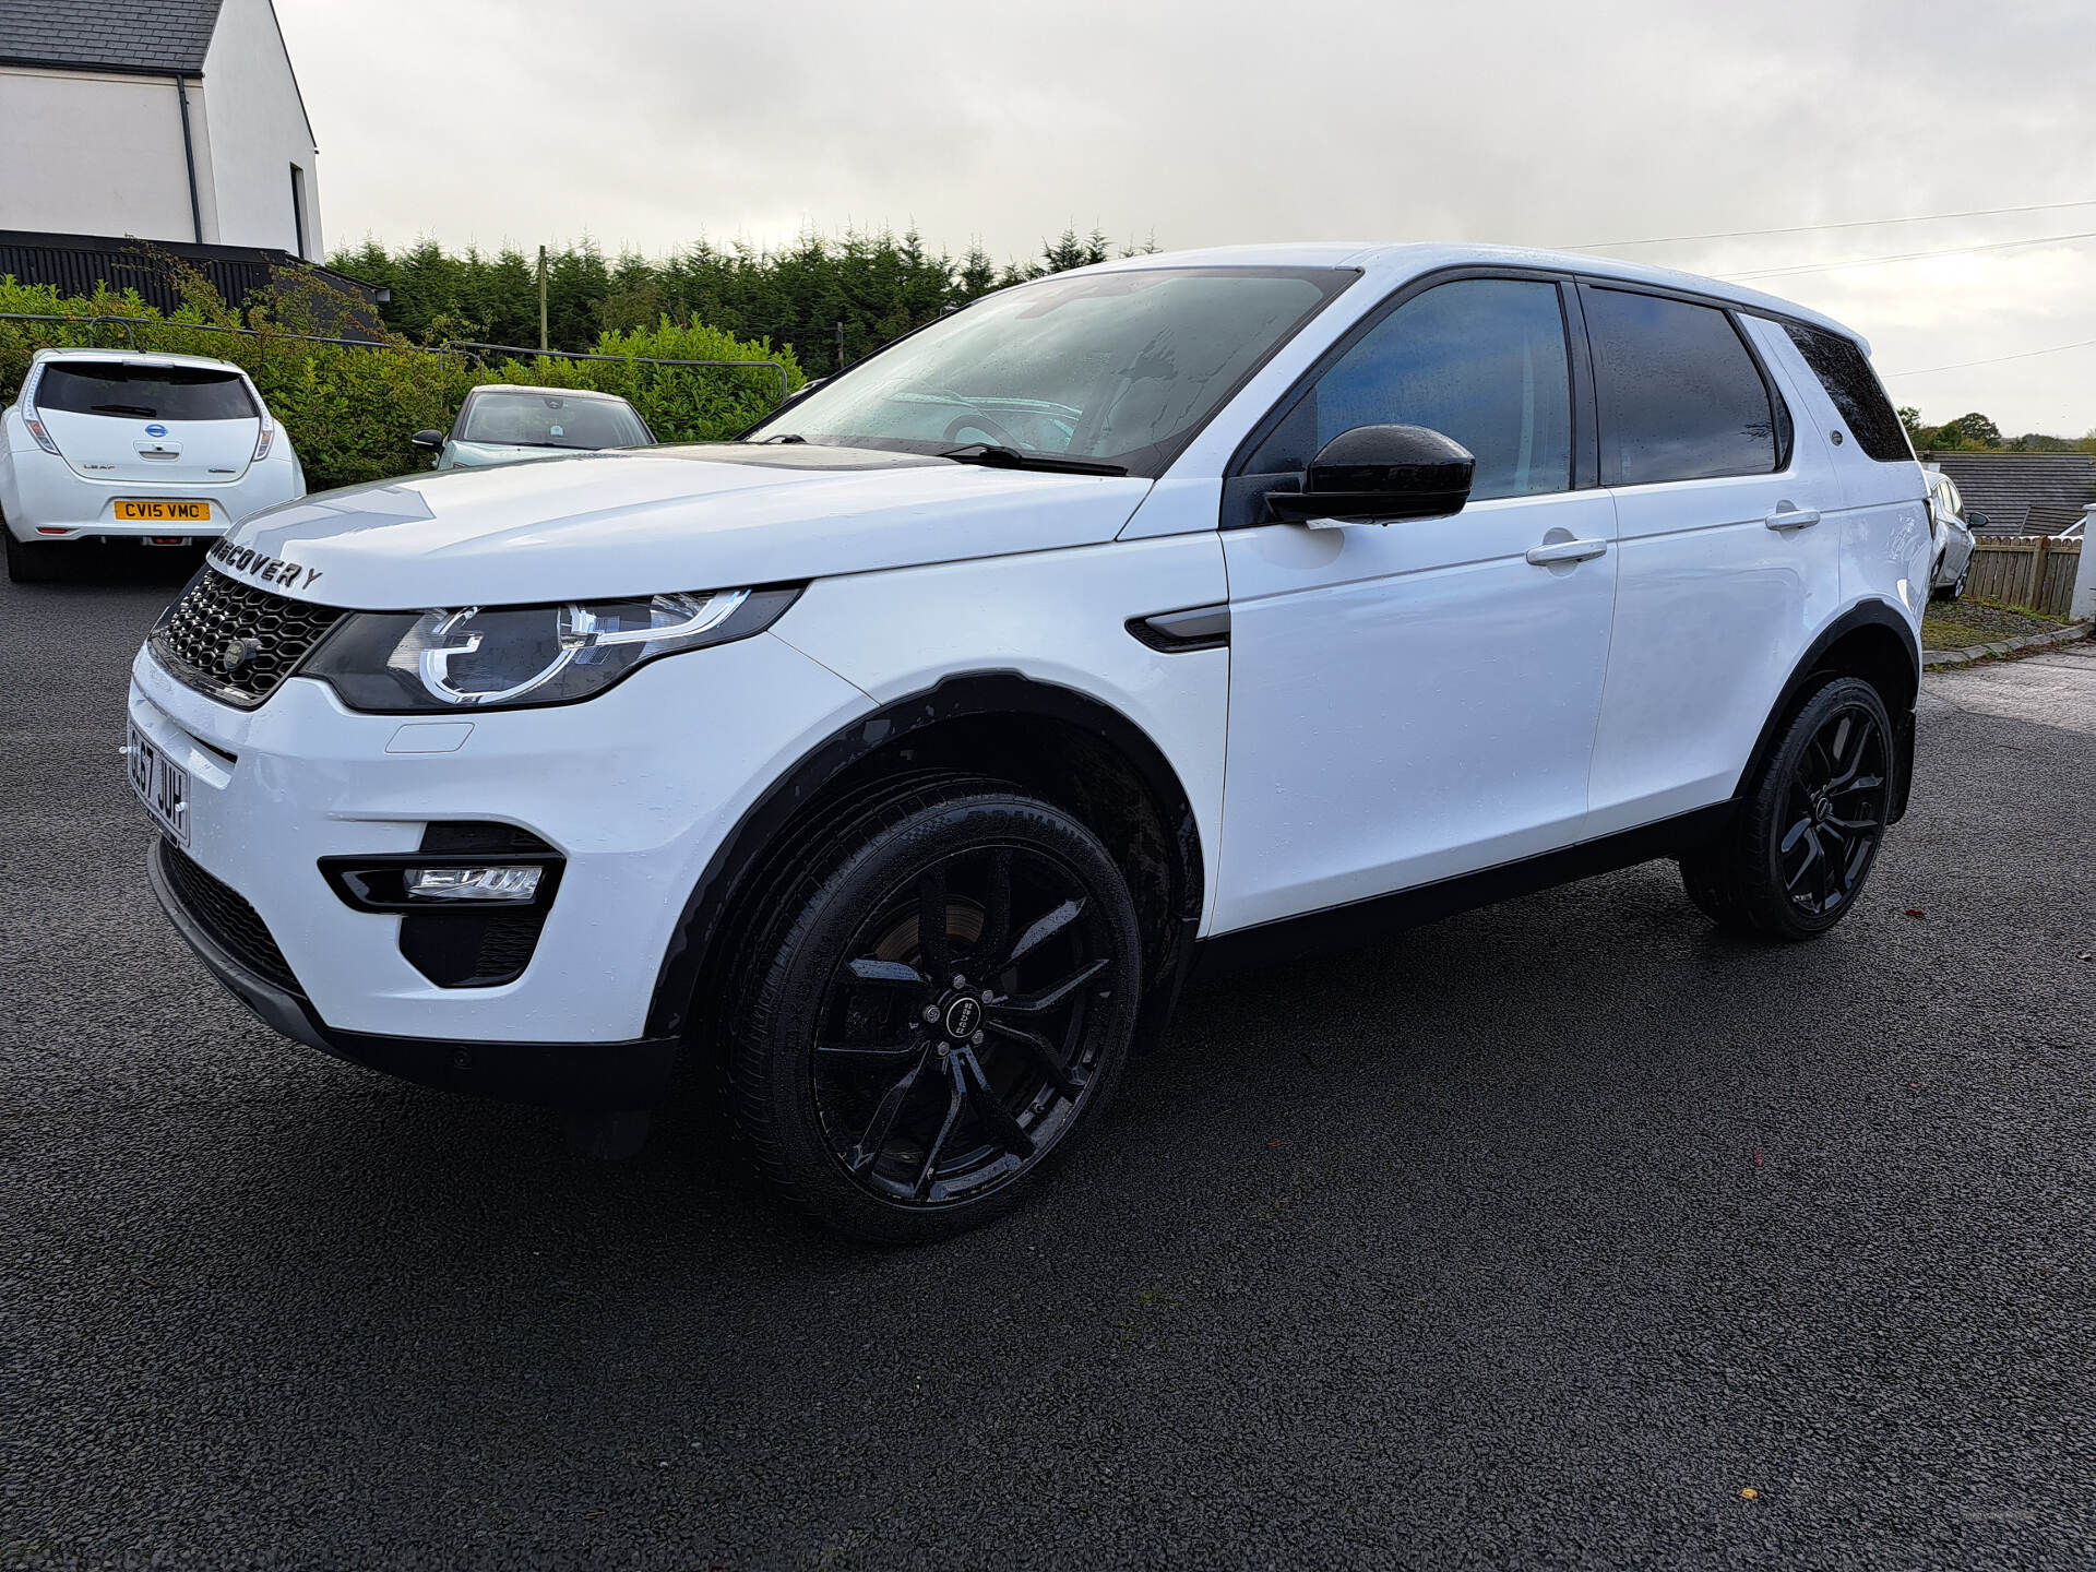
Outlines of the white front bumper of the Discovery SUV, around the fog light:
<svg viewBox="0 0 2096 1572">
<path fill-rule="evenodd" d="M 170 912 L 176 926 L 272 1025 L 367 1063 L 369 1044 L 354 1040 L 643 1042 L 664 954 L 715 849 L 771 780 L 870 708 L 767 633 L 650 662 L 581 704 L 459 721 L 358 715 L 304 677 L 241 711 L 176 681 L 151 650 L 130 685 L 130 721 L 189 771 L 187 855 L 266 924 L 296 977 L 296 989 L 275 989 L 289 1006 L 243 985 L 264 981 L 252 968 L 228 975 L 224 945 L 214 956 L 197 943 L 195 914 Z M 432 721 L 453 727 L 436 742 L 463 740 L 402 752 L 430 746 Z M 321 874 L 323 857 L 415 851 L 444 820 L 520 826 L 564 857 L 511 983 L 432 983 L 402 956 L 398 916 L 352 910 Z M 312 1031 L 289 1029 L 285 1008 Z"/>
</svg>

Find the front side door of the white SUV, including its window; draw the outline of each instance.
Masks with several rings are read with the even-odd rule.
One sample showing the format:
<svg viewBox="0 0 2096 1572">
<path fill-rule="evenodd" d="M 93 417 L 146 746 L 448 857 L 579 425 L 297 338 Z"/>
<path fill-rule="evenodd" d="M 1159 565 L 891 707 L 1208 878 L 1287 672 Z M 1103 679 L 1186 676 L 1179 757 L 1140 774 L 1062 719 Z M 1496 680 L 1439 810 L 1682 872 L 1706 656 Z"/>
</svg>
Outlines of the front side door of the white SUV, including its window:
<svg viewBox="0 0 2096 1572">
<path fill-rule="evenodd" d="M 1568 289 L 1465 277 L 1360 329 L 1230 482 L 1409 423 L 1476 459 L 1450 518 L 1224 530 L 1230 732 L 1214 933 L 1580 838 L 1616 602 Z M 1230 522 L 1230 520 L 1226 520 Z M 1555 547 L 1555 549 L 1551 549 Z M 1543 560 L 1534 560 L 1538 553 Z"/>
</svg>

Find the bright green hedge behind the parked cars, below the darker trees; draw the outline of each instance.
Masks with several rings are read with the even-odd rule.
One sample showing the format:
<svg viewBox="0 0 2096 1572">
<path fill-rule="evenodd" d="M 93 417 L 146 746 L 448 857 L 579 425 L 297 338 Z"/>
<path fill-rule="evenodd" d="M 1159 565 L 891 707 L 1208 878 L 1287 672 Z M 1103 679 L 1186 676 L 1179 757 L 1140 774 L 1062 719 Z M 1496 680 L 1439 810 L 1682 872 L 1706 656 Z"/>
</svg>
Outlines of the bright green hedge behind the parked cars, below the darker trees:
<svg viewBox="0 0 2096 1572">
<path fill-rule="evenodd" d="M 314 490 L 384 480 L 428 467 L 409 438 L 423 428 L 449 428 L 467 388 L 484 381 L 522 381 L 549 388 L 595 388 L 631 398 L 664 442 L 715 442 L 765 415 L 780 398 L 769 367 L 652 367 L 660 361 L 780 361 L 790 388 L 805 377 L 792 350 L 763 340 L 740 342 L 711 327 L 675 327 L 667 319 L 652 331 L 604 333 L 599 354 L 623 361 L 558 361 L 549 356 L 476 361 L 461 352 L 436 354 L 390 335 L 373 348 L 306 344 L 298 331 L 337 333 L 340 314 L 321 298 L 233 310 L 193 279 L 184 306 L 163 316 L 134 291 L 99 289 L 90 298 L 59 296 L 42 285 L 0 279 L 0 312 L 63 316 L 145 316 L 134 329 L 140 350 L 208 354 L 233 361 L 256 379 L 262 398 L 283 421 Z M 241 333 L 212 331 L 239 327 Z M 13 402 L 29 356 L 52 346 L 130 348 L 117 325 L 15 323 L 0 319 L 0 405 Z"/>
</svg>

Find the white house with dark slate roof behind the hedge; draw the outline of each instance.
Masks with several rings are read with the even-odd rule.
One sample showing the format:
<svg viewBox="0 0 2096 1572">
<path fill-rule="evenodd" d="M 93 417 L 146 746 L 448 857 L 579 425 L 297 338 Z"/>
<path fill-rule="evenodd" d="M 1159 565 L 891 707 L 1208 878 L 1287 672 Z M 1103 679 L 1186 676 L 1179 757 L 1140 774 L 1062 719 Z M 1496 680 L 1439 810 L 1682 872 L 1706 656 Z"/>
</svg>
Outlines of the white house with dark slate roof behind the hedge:
<svg viewBox="0 0 2096 1572">
<path fill-rule="evenodd" d="M 321 258 L 270 0 L 0 0 L 0 231 Z"/>
</svg>

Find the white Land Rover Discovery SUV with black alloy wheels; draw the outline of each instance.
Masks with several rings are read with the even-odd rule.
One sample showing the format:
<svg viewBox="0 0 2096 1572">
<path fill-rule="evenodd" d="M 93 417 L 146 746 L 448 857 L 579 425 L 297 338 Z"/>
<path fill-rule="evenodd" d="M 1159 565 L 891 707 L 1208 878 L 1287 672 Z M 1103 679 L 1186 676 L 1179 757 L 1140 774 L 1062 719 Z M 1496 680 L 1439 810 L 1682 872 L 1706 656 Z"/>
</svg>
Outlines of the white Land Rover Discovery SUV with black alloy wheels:
<svg viewBox="0 0 2096 1572">
<path fill-rule="evenodd" d="M 1907 801 L 1922 472 L 1863 344 L 1476 245 L 998 291 L 740 442 L 241 524 L 140 650 L 151 880 L 272 1027 L 926 1239 L 1195 968 L 1675 857 L 1773 939 Z"/>
</svg>

